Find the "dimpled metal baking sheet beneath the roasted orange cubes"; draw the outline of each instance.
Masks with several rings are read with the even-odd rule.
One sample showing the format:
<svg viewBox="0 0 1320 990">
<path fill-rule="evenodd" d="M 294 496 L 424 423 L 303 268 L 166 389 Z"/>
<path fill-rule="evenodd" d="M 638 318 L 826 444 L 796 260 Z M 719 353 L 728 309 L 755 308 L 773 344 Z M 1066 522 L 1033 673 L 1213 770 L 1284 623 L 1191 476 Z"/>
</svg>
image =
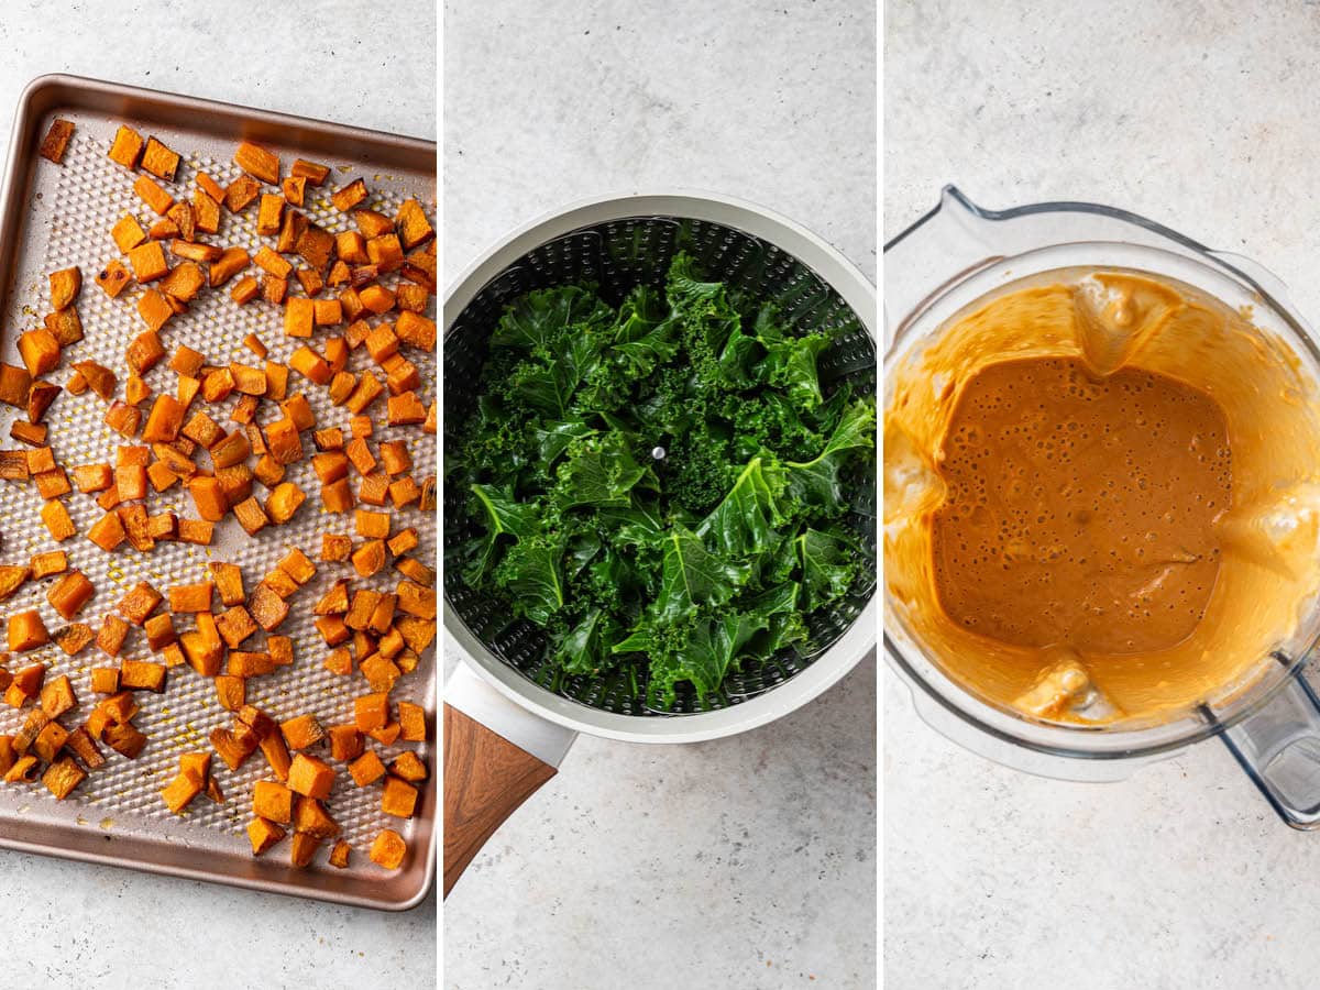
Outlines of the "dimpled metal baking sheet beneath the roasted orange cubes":
<svg viewBox="0 0 1320 990">
<path fill-rule="evenodd" d="M 55 117 L 70 120 L 75 127 L 62 165 L 37 154 L 40 141 Z M 191 199 L 199 172 L 209 173 L 222 186 L 238 178 L 240 172 L 232 161 L 234 149 L 240 140 L 252 140 L 280 156 L 281 176 L 288 174 L 293 160 L 300 157 L 330 166 L 330 177 L 323 186 L 308 186 L 302 211 L 331 232 L 355 228 L 351 214 L 339 213 L 331 205 L 330 194 L 358 177 L 366 181 L 370 190 L 363 207 L 392 218 L 400 203 L 416 198 L 434 223 L 436 153 L 432 143 L 86 79 L 44 77 L 29 87 L 20 106 L 7 164 L 0 261 L 8 280 L 0 360 L 22 363 L 17 337 L 24 330 L 41 326 L 50 308 L 46 275 L 77 265 L 83 272 L 83 288 L 75 305 L 84 337 L 65 347 L 59 368 L 45 376 L 55 384 L 67 383 L 74 362 L 94 360 L 116 374 L 117 396 L 123 397 L 128 376 L 125 346 L 147 329 L 136 306 L 143 289 L 129 282 L 117 298 L 111 298 L 92 281 L 106 263 L 121 257 L 110 235 L 116 220 L 131 214 L 145 228 L 157 219 L 133 193 L 135 178 L 144 173 L 140 169 L 132 173 L 107 157 L 119 124 L 128 124 L 144 137 L 154 136 L 180 153 L 176 181 L 161 182 L 176 199 Z M 277 190 L 267 187 L 265 191 Z M 256 235 L 256 203 L 239 215 L 222 210 L 219 234 L 199 235 L 198 239 L 223 247 L 239 246 L 249 253 L 255 253 L 263 243 L 273 247 L 272 238 Z M 260 271 L 253 267 L 246 273 L 260 275 Z M 392 288 L 397 277 L 395 273 L 381 281 Z M 260 367 L 261 360 L 243 345 L 248 334 L 256 334 L 269 348 L 268 359 L 280 363 L 286 363 L 296 346 L 304 343 L 285 337 L 282 306 L 271 305 L 260 297 L 238 305 L 228 294 L 234 281 L 220 289 L 202 289 L 186 313 L 164 326 L 161 338 L 166 359 L 144 376 L 153 396 L 176 391 L 177 376 L 168 363 L 180 345 L 201 351 L 209 366 L 232 362 Z M 296 280 L 290 280 L 290 294 L 301 294 Z M 329 290 L 322 294 L 327 296 Z M 434 318 L 433 298 L 426 315 Z M 387 314 L 371 322 L 392 319 L 393 314 Z M 319 348 L 329 337 L 343 330 L 343 325 L 317 327 L 313 339 L 306 343 Z M 421 375 L 418 399 L 429 407 L 436 396 L 434 355 L 413 347 L 404 350 Z M 362 371 L 370 363 L 366 348 L 358 347 L 350 355 L 348 370 Z M 296 392 L 306 395 L 315 413 L 315 429 L 339 426 L 346 436 L 351 436 L 350 413 L 334 407 L 325 388 L 290 372 L 289 393 Z M 203 408 L 214 420 L 232 429 L 228 416 L 236 400 L 235 395 L 207 405 L 198 397 L 193 409 Z M 150 401 L 152 397 L 148 397 L 141 404 L 144 418 Z M 381 441 L 407 441 L 413 461 L 412 474 L 420 484 L 437 471 L 436 438 L 420 426 L 385 426 L 384 404 L 381 396 L 368 411 L 375 422 L 368 442 L 378 450 Z M 280 417 L 276 403 L 263 400 L 260 405 L 260 425 Z M 49 444 L 62 467 L 114 465 L 120 444 L 141 442 L 125 440 L 111 430 L 104 422 L 107 408 L 108 404 L 91 391 L 81 396 L 67 391 L 58 395 L 45 421 L 50 428 Z M 0 447 L 22 446 L 9 438 L 11 424 L 22 418 L 20 411 L 0 405 Z M 290 465 L 286 474 L 286 480 L 296 482 L 308 495 L 293 519 L 248 536 L 230 513 L 216 524 L 210 546 L 162 541 L 152 552 L 139 553 L 125 543 L 117 550 L 106 553 L 87 539 L 88 527 L 102 516 L 95 496 L 83 495 L 77 488 L 63 496 L 78 533 L 58 544 L 58 549 L 69 553 L 70 568 L 84 572 L 96 589 L 77 620 L 98 628 L 102 616 L 114 612 L 119 599 L 141 581 L 150 582 L 168 595 L 170 586 L 209 579 L 210 561 L 238 564 L 251 594 L 290 548 L 300 548 L 317 564 L 317 574 L 289 599 L 289 616 L 276 630 L 279 635 L 293 639 L 294 663 L 273 675 L 249 678 L 247 701 L 276 721 L 312 713 L 325 726 L 352 722 L 352 700 L 368 693 L 370 688 L 356 668 L 350 676 L 334 675 L 325 668 L 329 647 L 315 630 L 313 607 L 338 578 L 351 579 L 350 591 L 358 587 L 393 591 L 401 574 L 387 564 L 378 574 L 363 579 L 347 561 L 331 564 L 319 560 L 322 533 L 351 536 L 355 546 L 360 539 L 355 533 L 351 512 L 334 515 L 322 508 L 321 484 L 310 462 L 314 453 L 312 432 L 302 434 L 302 444 L 304 458 Z M 202 466 L 209 463 L 201 453 L 195 459 Z M 249 463 L 255 459 L 251 458 Z M 356 488 L 356 474 L 350 473 L 350 479 Z M 253 483 L 253 492 L 259 500 L 264 500 L 267 494 L 259 482 Z M 197 517 L 191 498 L 180 484 L 164 492 L 150 492 L 147 506 L 153 515 L 168 511 L 180 517 Z M 0 482 L 0 564 L 26 564 L 34 553 L 57 549 L 41 521 L 41 507 L 42 499 L 32 482 Z M 368 508 L 389 512 L 392 532 L 416 528 L 420 544 L 408 556 L 434 566 L 433 512 L 418 511 L 416 503 L 405 508 Z M 37 609 L 51 631 L 66 624 L 46 599 L 55 579 L 26 583 L 0 605 L 0 616 Z M 214 607 L 216 612 L 222 610 L 218 597 Z M 176 627 L 180 631 L 190 628 L 189 616 L 176 616 Z M 244 648 L 260 649 L 253 644 L 261 642 L 261 635 L 257 632 L 243 644 Z M 136 628 L 129 632 L 123 657 L 160 660 L 150 653 L 144 634 Z M 79 701 L 78 709 L 59 719 L 69 730 L 82 725 L 98 700 L 88 682 L 91 669 L 117 664 L 95 644 L 73 657 L 50 644 L 11 657 L 8 667 L 15 671 L 32 661 L 49 665 L 48 681 L 69 675 Z M 391 696 L 391 701 L 413 701 L 425 708 L 428 741 L 381 746 L 368 738 L 368 747 L 374 747 L 385 763 L 405 750 L 413 750 L 428 768 L 433 767 L 434 694 L 434 647 L 429 647 L 417 669 L 404 675 Z M 103 746 L 106 764 L 94 770 L 63 801 L 57 801 L 40 781 L 0 784 L 0 845 L 378 908 L 407 908 L 425 896 L 434 875 L 434 775 L 420 784 L 416 816 L 409 820 L 392 817 L 380 809 L 379 781 L 366 788 L 355 787 L 346 764 L 331 760 L 327 748 L 321 752 L 317 747 L 315 755 L 338 771 L 326 807 L 342 828 L 342 838 L 352 846 L 352 855 L 347 869 L 331 867 L 327 853 L 333 842 L 325 842 L 312 866 L 298 870 L 289 866 L 289 840 L 260 858 L 253 858 L 251 853 L 246 829 L 252 818 L 252 785 L 260 779 L 275 779 L 260 751 L 238 771 L 231 771 L 218 756 L 213 760 L 213 775 L 226 799 L 220 804 L 202 795 L 177 816 L 160 796 L 160 791 L 178 772 L 180 755 L 211 752 L 211 730 L 231 723 L 231 713 L 219 705 L 214 682 L 187 665 L 176 667 L 168 673 L 162 694 L 137 692 L 136 701 L 141 713 L 135 725 L 148 737 L 147 747 L 137 759 L 125 759 Z M 0 706 L 0 734 L 16 733 L 29 710 L 30 706 L 22 710 Z M 367 855 L 372 840 L 384 828 L 395 829 L 408 843 L 404 865 L 396 871 L 376 866 Z"/>
</svg>

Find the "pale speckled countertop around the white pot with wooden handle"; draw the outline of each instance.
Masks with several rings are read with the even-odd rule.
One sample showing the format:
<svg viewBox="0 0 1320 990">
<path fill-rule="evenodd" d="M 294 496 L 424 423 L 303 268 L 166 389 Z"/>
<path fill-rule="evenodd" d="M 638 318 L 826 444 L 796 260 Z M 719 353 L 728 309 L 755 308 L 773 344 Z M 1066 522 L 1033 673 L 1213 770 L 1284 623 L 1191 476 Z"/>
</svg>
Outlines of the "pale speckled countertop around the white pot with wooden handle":
<svg viewBox="0 0 1320 990">
<path fill-rule="evenodd" d="M 572 199 L 689 186 L 875 265 L 874 4 L 445 11 L 445 269 Z M 581 738 L 445 904 L 447 990 L 865 989 L 875 665 L 701 746 Z"/>
</svg>

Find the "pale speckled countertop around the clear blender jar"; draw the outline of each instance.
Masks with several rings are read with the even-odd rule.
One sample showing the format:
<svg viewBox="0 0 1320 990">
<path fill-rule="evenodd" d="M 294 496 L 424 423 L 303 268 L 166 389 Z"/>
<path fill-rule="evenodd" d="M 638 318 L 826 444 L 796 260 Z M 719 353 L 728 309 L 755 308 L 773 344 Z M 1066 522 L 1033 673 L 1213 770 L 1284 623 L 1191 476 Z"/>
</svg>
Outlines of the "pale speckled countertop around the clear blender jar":
<svg viewBox="0 0 1320 990">
<path fill-rule="evenodd" d="M 1082 9 L 1085 7 L 1085 9 Z M 884 238 L 958 183 L 1090 199 L 1245 253 L 1320 319 L 1305 3 L 890 3 Z M 888 990 L 1315 982 L 1320 834 L 1218 742 L 1122 784 L 1040 780 L 917 721 L 883 677 Z"/>
</svg>

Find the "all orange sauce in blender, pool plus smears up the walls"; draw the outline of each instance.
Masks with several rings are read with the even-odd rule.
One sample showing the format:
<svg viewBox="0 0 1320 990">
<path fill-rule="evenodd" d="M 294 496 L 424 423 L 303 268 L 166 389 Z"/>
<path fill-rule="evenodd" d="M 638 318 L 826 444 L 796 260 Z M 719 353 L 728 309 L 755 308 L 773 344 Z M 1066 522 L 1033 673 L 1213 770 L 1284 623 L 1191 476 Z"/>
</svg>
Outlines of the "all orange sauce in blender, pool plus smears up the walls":
<svg viewBox="0 0 1320 990">
<path fill-rule="evenodd" d="M 891 612 L 965 689 L 1152 723 L 1249 682 L 1320 585 L 1320 395 L 1187 285 L 1034 276 L 891 371 Z"/>
</svg>

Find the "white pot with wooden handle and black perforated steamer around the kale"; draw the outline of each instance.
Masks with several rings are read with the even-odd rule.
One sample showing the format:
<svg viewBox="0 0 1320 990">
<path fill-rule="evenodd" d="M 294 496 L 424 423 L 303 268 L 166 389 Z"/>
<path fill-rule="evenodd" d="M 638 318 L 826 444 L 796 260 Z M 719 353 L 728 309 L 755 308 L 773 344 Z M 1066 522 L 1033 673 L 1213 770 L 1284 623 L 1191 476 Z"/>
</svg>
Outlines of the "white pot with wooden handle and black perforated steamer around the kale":
<svg viewBox="0 0 1320 990">
<path fill-rule="evenodd" d="M 680 249 L 696 257 L 705 277 L 775 301 L 795 327 L 828 329 L 836 339 L 820 360 L 826 391 L 849 381 L 859 395 L 874 393 L 874 288 L 820 238 L 760 207 L 708 194 L 610 198 L 572 206 L 517 231 L 450 290 L 446 438 L 478 397 L 471 385 L 508 302 L 539 288 L 593 282 L 618 305 L 639 284 L 663 289 Z M 453 521 L 462 519 L 457 507 L 463 492 L 445 491 L 446 648 L 467 660 L 445 688 L 446 892 L 480 842 L 553 775 L 574 733 L 631 742 L 729 735 L 787 714 L 857 664 L 875 643 L 874 470 L 858 471 L 849 488 L 849 525 L 869 550 L 871 581 L 865 590 L 817 618 L 808 643 L 766 663 L 746 663 L 704 701 L 680 684 L 677 700 L 665 710 L 647 708 L 644 672 L 564 676 L 548 661 L 533 624 L 511 623 L 502 601 L 467 587 L 455 554 L 473 533 Z M 461 733 L 451 734 L 451 717 Z M 500 779 L 486 776 L 494 758 L 483 748 L 504 754 Z"/>
</svg>

